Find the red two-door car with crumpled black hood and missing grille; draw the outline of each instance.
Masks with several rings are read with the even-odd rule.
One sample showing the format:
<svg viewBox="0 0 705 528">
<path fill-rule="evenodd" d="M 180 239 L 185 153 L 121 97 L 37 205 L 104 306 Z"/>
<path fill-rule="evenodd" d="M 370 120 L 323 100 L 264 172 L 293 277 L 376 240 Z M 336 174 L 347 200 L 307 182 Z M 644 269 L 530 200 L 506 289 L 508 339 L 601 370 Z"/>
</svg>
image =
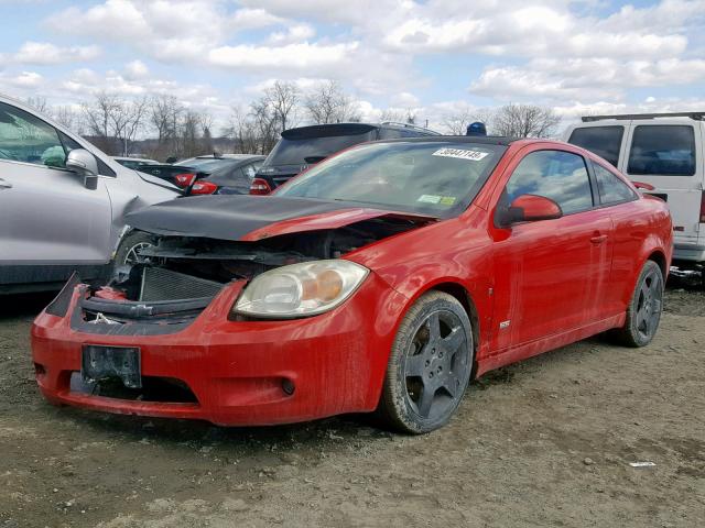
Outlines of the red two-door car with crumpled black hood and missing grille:
<svg viewBox="0 0 705 528">
<path fill-rule="evenodd" d="M 653 338 L 669 211 L 565 143 L 422 138 L 344 151 L 271 197 L 182 198 L 108 285 L 36 318 L 55 404 L 269 425 L 377 411 L 420 433 L 469 381 L 589 336 Z"/>
</svg>

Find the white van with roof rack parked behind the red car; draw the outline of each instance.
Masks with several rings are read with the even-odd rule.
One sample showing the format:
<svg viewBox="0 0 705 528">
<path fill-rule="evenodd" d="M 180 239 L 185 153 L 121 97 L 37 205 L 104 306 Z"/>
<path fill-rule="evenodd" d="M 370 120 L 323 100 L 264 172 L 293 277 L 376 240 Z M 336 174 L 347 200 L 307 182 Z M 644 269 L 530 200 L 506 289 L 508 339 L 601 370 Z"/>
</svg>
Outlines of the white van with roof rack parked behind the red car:
<svg viewBox="0 0 705 528">
<path fill-rule="evenodd" d="M 704 119 L 705 112 L 587 116 L 564 136 L 654 187 L 647 193 L 669 204 L 682 271 L 705 265 Z"/>
</svg>

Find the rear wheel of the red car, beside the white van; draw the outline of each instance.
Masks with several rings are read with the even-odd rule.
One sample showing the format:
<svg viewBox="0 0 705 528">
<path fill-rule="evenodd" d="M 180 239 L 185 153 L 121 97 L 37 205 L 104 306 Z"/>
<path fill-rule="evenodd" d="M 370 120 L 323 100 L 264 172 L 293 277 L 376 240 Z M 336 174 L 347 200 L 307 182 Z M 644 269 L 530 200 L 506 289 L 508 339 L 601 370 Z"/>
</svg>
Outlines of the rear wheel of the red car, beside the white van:
<svg viewBox="0 0 705 528">
<path fill-rule="evenodd" d="M 627 346 L 646 346 L 657 333 L 662 310 L 663 273 L 655 262 L 647 261 L 627 308 L 625 326 L 610 334 Z"/>
</svg>

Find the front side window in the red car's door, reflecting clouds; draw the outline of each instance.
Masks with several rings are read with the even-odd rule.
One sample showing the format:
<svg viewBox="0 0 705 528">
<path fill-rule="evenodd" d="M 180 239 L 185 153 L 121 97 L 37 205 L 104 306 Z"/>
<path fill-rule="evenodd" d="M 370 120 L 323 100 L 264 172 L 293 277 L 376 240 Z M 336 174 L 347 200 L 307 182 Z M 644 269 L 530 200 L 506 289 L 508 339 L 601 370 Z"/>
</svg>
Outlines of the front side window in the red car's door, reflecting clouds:
<svg viewBox="0 0 705 528">
<path fill-rule="evenodd" d="M 521 161 L 507 183 L 508 204 L 521 195 L 555 201 L 564 215 L 593 207 L 593 193 L 583 156 L 563 151 L 536 151 Z"/>
</svg>

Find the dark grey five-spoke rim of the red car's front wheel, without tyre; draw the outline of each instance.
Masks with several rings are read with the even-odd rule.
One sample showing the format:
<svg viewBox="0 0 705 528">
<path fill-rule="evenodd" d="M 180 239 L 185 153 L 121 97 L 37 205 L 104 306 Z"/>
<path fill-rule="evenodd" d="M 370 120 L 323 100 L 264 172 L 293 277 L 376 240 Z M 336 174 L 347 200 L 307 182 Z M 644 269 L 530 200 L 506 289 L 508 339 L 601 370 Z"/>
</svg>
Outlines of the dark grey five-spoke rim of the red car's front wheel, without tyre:
<svg viewBox="0 0 705 528">
<path fill-rule="evenodd" d="M 444 418 L 458 405 L 468 377 L 468 339 L 460 319 L 447 310 L 432 312 L 406 350 L 406 402 L 423 419 Z"/>
</svg>

